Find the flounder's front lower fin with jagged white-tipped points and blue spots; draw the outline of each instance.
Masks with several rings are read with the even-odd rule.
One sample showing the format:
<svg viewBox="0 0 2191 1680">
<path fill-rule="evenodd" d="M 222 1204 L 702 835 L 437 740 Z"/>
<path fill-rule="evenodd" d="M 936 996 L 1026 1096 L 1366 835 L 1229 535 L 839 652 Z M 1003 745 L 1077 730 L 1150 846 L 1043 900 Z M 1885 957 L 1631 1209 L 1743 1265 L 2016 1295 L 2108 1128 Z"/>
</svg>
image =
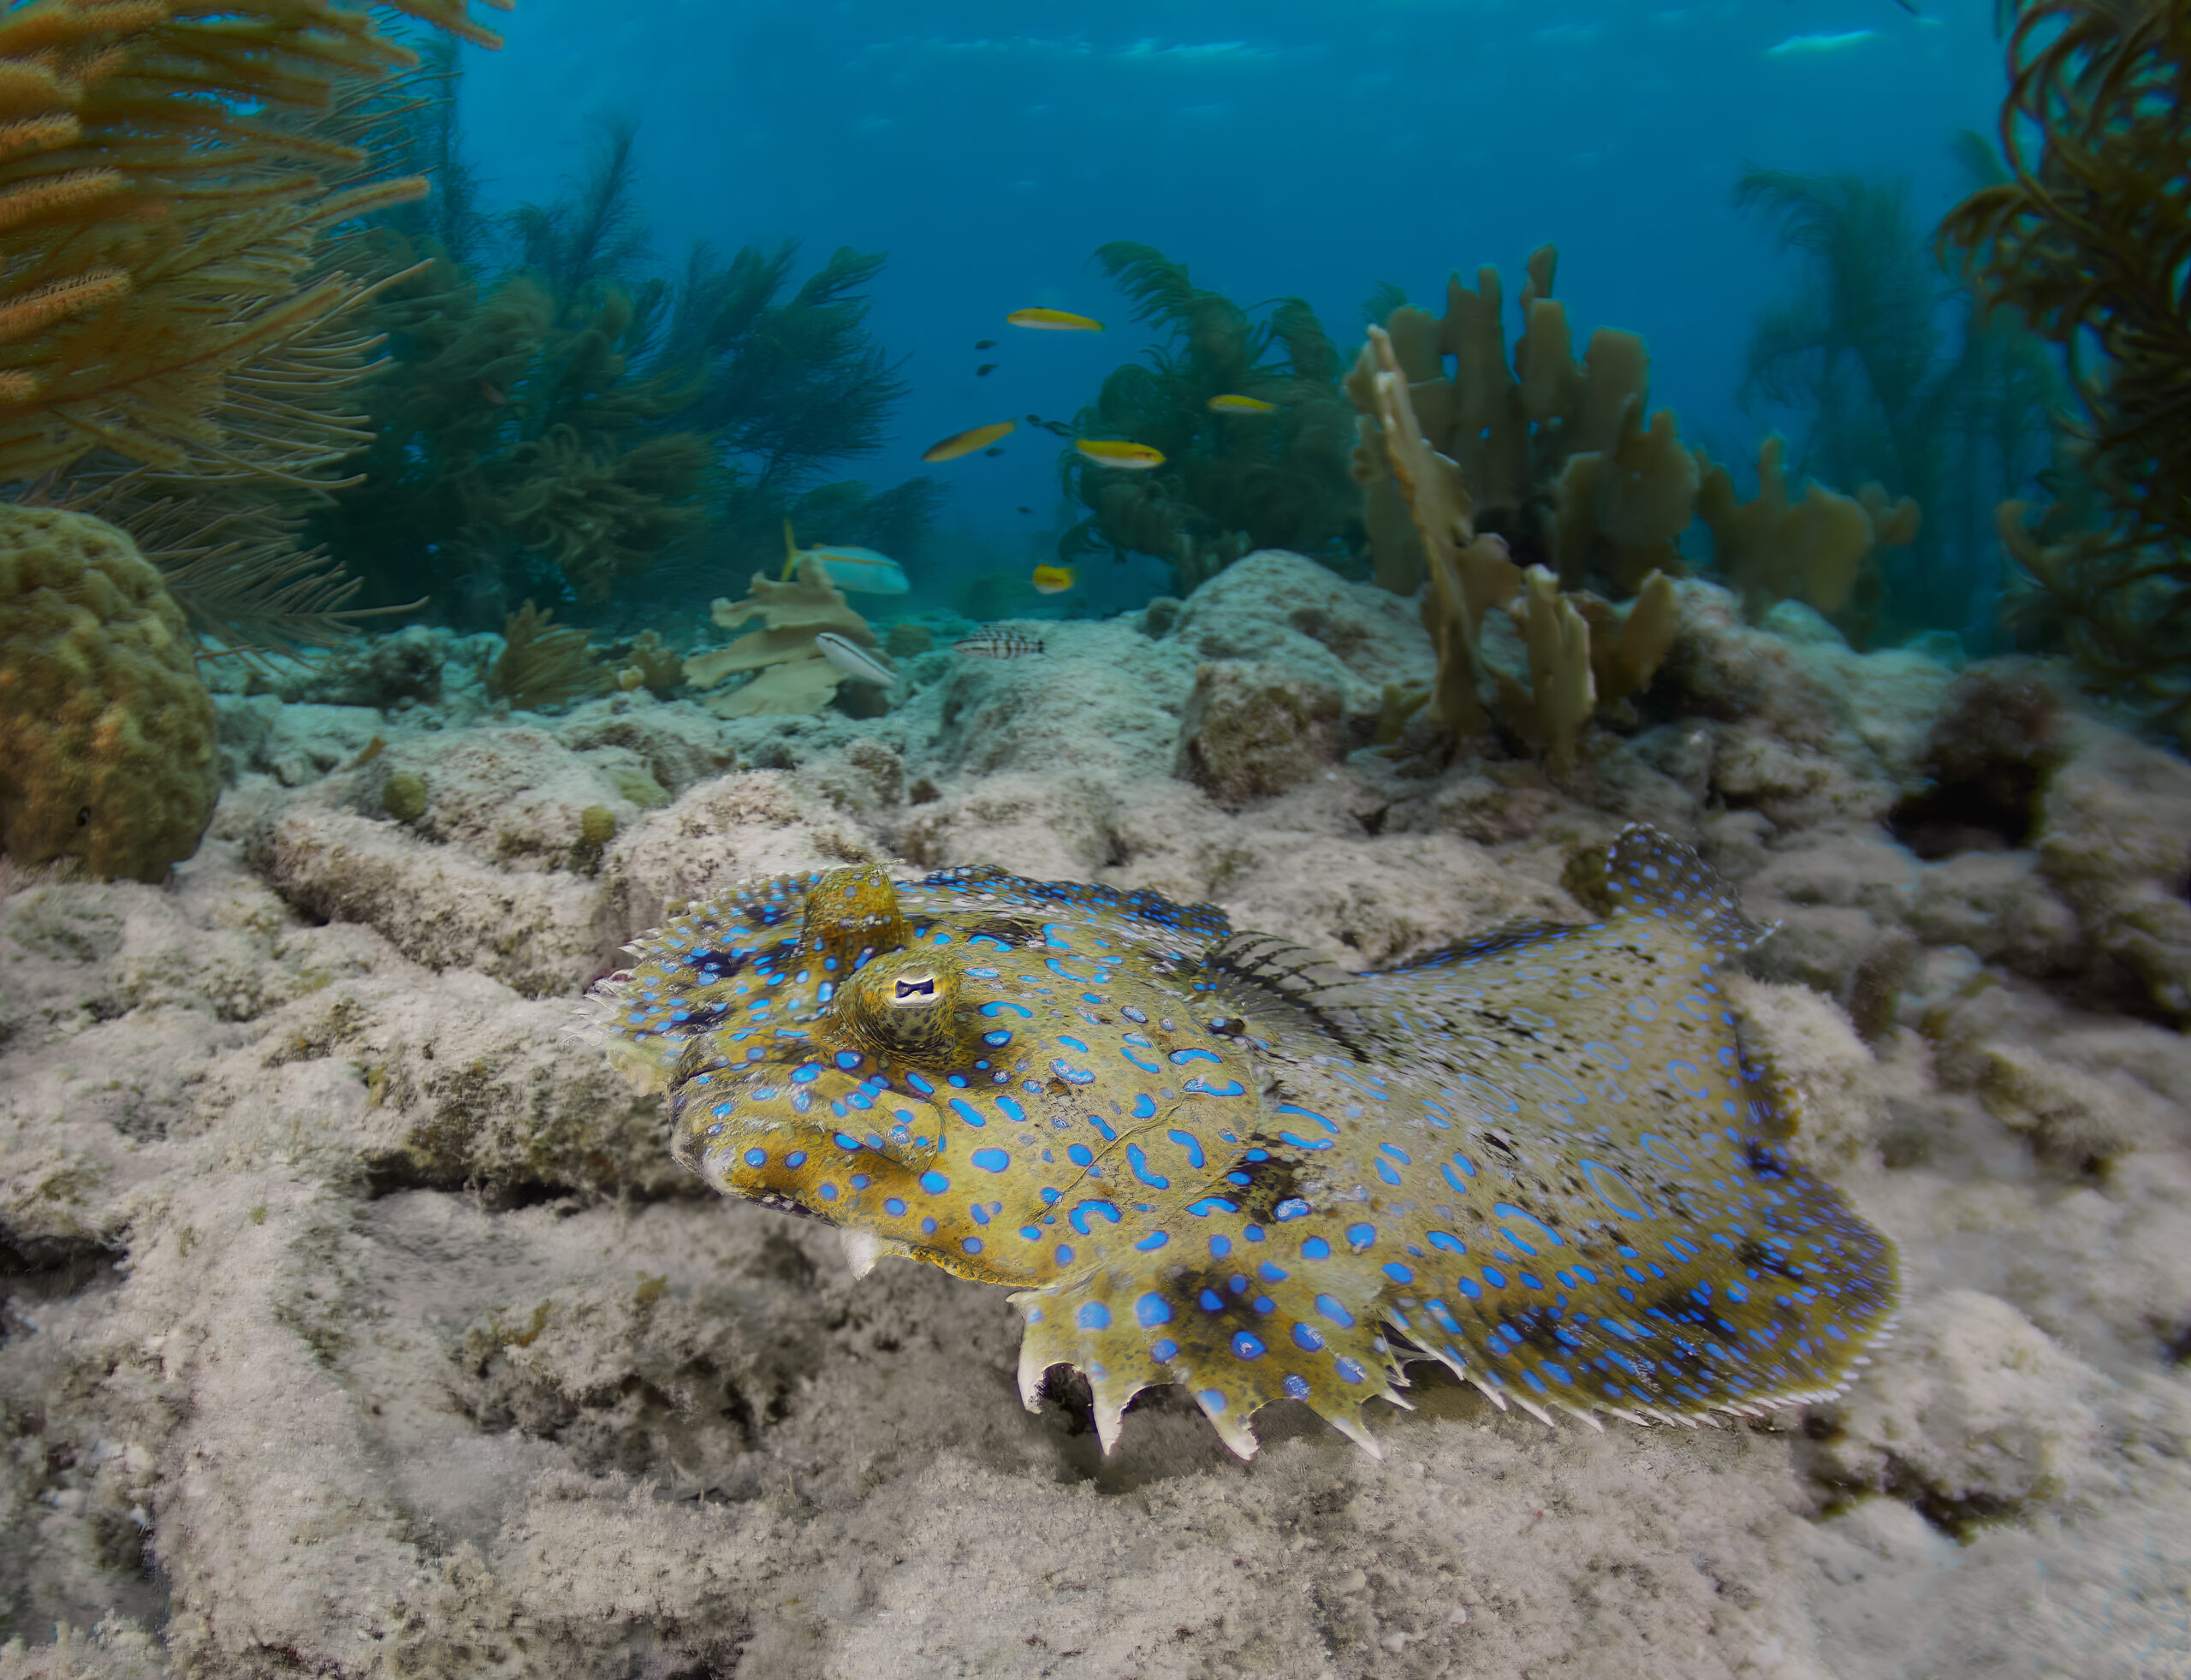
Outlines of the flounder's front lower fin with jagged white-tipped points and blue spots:
<svg viewBox="0 0 2191 1680">
<path fill-rule="evenodd" d="M 1341 1435 L 1383 1457 L 1363 1422 L 1369 1400 L 1407 1406 L 1400 1365 L 1378 1325 L 1378 1279 L 1345 1253 L 1326 1262 L 1262 1259 L 1255 1244 L 1225 1257 L 1146 1273 L 1100 1268 L 1012 1297 L 1028 1321 L 1019 1393 L 1041 1408 L 1043 1373 L 1071 1365 L 1096 1395 L 1104 1452 L 1126 1402 L 1181 1384 L 1218 1437 L 1255 1457 L 1249 1419 L 1301 1400 Z"/>
</svg>

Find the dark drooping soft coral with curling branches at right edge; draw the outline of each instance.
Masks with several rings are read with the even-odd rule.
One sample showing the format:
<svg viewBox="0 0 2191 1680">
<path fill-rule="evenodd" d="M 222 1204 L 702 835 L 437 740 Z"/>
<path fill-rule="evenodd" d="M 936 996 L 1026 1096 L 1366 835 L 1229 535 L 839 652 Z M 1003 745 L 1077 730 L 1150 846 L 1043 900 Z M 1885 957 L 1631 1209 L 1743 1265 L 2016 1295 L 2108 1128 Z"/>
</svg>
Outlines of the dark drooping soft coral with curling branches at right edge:
<svg viewBox="0 0 2191 1680">
<path fill-rule="evenodd" d="M 2000 510 L 2011 615 L 2191 740 L 2191 20 L 2176 4 L 2011 0 L 2009 180 L 1941 223 L 1987 309 L 2070 357 L 2081 416 L 2040 517 Z"/>
</svg>

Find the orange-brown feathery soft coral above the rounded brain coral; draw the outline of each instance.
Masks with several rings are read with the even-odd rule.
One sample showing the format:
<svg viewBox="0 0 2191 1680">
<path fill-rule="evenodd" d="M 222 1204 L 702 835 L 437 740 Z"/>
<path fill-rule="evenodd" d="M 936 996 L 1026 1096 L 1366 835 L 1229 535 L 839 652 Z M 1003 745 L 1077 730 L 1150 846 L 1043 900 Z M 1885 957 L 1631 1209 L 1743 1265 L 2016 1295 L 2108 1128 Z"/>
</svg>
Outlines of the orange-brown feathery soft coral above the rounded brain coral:
<svg viewBox="0 0 2191 1680">
<path fill-rule="evenodd" d="M 469 0 L 392 11 L 500 44 Z M 372 177 L 416 66 L 331 0 L 0 22 L 0 482 L 77 475 L 70 504 L 138 539 L 202 653 L 326 646 L 359 615 L 278 497 L 370 440 L 346 410 L 390 267 L 344 228 L 427 191 Z"/>
</svg>

